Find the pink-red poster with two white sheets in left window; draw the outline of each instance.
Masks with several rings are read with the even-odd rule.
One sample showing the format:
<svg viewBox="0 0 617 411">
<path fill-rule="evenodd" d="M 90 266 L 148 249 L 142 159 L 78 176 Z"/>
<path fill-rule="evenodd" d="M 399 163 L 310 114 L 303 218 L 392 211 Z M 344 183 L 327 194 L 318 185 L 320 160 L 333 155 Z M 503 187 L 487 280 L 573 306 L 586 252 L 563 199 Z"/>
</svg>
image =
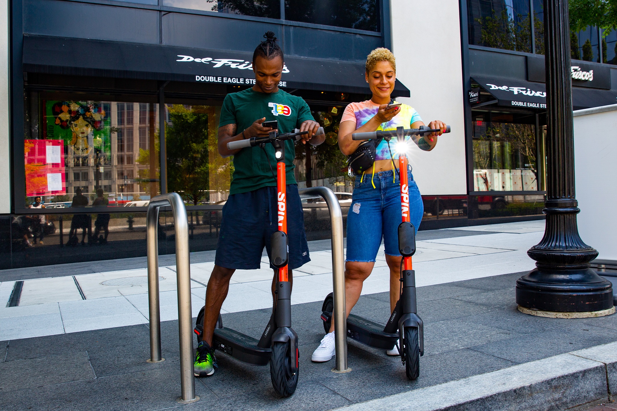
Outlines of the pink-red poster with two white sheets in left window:
<svg viewBox="0 0 617 411">
<path fill-rule="evenodd" d="M 25 140 L 26 195 L 66 194 L 64 140 Z"/>
</svg>

